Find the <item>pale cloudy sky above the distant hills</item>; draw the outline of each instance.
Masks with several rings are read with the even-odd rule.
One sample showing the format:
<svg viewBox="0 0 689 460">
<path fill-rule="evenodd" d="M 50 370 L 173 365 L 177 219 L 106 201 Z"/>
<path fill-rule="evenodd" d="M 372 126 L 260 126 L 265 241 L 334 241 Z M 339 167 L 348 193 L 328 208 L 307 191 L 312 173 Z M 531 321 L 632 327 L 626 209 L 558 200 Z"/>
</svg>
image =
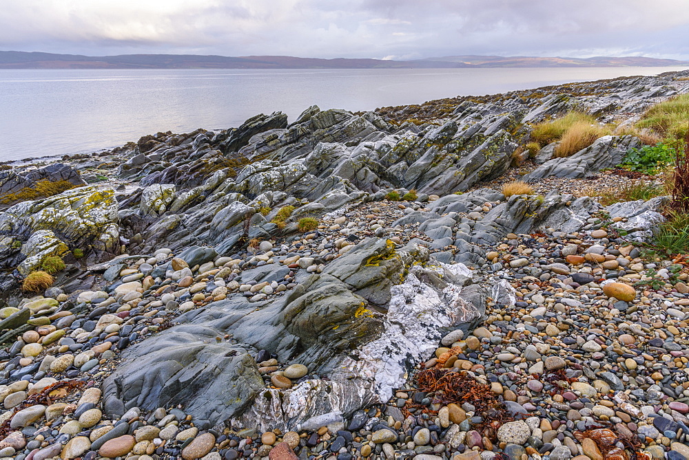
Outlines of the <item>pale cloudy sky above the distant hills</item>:
<svg viewBox="0 0 689 460">
<path fill-rule="evenodd" d="M 0 50 L 689 60 L 688 0 L 2 0 Z"/>
</svg>

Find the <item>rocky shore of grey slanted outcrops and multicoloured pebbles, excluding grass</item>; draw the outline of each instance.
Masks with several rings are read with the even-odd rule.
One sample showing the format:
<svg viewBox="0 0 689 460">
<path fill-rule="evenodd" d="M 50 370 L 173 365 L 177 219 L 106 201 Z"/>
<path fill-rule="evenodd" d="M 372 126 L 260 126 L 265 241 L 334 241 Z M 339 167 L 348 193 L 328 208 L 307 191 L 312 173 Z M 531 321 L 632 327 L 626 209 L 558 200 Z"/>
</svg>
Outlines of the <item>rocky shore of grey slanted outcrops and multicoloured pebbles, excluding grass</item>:
<svg viewBox="0 0 689 460">
<path fill-rule="evenodd" d="M 514 164 L 688 76 L 0 166 L 0 459 L 689 459 L 689 270 L 644 257 L 668 197 L 587 195 L 641 142 Z"/>
</svg>

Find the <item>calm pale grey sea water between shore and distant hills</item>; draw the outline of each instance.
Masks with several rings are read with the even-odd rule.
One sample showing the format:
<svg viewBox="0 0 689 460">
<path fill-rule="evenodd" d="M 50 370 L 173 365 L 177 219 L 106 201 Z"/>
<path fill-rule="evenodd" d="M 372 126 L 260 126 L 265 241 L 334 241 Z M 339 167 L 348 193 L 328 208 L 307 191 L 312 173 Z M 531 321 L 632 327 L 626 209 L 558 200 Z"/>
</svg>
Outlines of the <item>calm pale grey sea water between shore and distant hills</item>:
<svg viewBox="0 0 689 460">
<path fill-rule="evenodd" d="M 371 110 L 672 70 L 681 68 L 0 70 L 0 161 L 238 127 L 257 113 L 294 120 L 313 104 Z"/>
</svg>

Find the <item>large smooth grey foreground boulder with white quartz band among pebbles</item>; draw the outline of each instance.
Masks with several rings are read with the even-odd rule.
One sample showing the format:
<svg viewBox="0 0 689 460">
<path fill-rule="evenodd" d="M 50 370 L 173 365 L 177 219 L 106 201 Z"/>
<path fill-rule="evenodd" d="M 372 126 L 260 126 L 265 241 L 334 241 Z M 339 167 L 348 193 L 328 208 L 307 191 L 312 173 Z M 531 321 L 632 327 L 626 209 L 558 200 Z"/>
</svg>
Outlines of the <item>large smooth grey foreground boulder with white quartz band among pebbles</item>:
<svg viewBox="0 0 689 460">
<path fill-rule="evenodd" d="M 183 403 L 209 426 L 229 419 L 238 427 L 288 430 L 386 399 L 442 336 L 482 316 L 485 293 L 471 285 L 469 270 L 412 266 L 427 259 L 422 248 L 396 250 L 371 238 L 286 296 L 260 303 L 228 298 L 189 311 L 180 325 L 123 353 L 104 384 L 105 411 Z M 410 274 L 402 283 L 404 270 Z M 236 344 L 215 343 L 227 333 Z M 267 389 L 252 358 L 258 349 L 329 380 Z"/>
</svg>

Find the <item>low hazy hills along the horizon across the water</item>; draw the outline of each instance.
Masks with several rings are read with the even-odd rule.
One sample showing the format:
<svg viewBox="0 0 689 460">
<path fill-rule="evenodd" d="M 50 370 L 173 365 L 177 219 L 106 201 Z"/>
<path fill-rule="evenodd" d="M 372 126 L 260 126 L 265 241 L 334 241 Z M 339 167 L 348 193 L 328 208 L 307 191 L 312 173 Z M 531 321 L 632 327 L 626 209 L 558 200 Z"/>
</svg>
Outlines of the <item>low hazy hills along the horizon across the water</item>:
<svg viewBox="0 0 689 460">
<path fill-rule="evenodd" d="M 539 58 L 528 56 L 444 56 L 414 61 L 318 59 L 293 56 L 200 56 L 123 54 L 81 56 L 0 51 L 0 69 L 456 69 L 471 67 L 666 67 L 689 61 L 644 57 Z"/>
</svg>

